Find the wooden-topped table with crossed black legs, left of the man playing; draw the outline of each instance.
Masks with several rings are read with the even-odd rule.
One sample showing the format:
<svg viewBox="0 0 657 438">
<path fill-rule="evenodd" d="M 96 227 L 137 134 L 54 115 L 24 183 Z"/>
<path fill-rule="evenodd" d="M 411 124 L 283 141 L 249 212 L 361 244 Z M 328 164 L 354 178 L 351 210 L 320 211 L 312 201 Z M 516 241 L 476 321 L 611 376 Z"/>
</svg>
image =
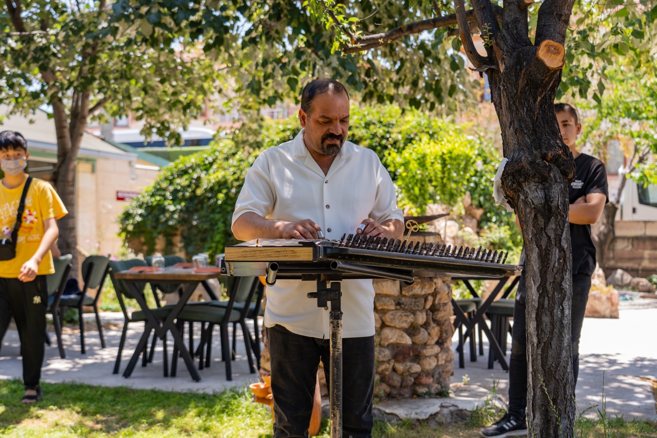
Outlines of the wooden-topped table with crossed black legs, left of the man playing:
<svg viewBox="0 0 657 438">
<path fill-rule="evenodd" d="M 135 353 L 133 353 L 132 357 L 130 358 L 130 362 L 128 362 L 127 368 L 125 368 L 123 374 L 124 377 L 130 377 L 130 375 L 132 374 L 133 370 L 135 369 L 135 366 L 137 365 L 137 360 L 139 360 L 139 354 L 141 354 L 141 351 L 143 351 L 143 349 L 147 345 L 148 335 L 150 335 L 151 330 L 154 330 L 155 335 L 160 339 L 164 339 L 167 331 L 171 332 L 171 336 L 173 337 L 173 342 L 175 343 L 175 346 L 180 352 L 180 355 L 183 357 L 183 360 L 185 360 L 185 365 L 187 365 L 189 374 L 191 374 L 192 378 L 195 381 L 200 381 L 201 379 L 200 374 L 198 374 L 198 370 L 196 370 L 196 367 L 194 367 L 194 361 L 192 359 L 191 354 L 189 353 L 189 350 L 185 348 L 183 337 L 180 335 L 180 332 L 175 326 L 175 319 L 183 310 L 185 304 L 187 304 L 187 301 L 189 301 L 189 298 L 194 293 L 194 289 L 196 289 L 198 283 L 205 283 L 207 280 L 210 280 L 211 278 L 221 277 L 221 273 L 219 272 L 219 270 L 217 270 L 217 272 L 194 272 L 194 270 L 192 269 L 166 268 L 164 271 L 161 272 L 121 271 L 121 272 L 116 272 L 116 274 L 114 274 L 114 277 L 119 280 L 125 281 L 126 287 L 130 289 L 132 295 L 137 300 L 137 303 L 139 303 L 139 306 L 141 306 L 141 310 L 143 310 L 147 318 L 145 323 L 146 326 L 144 328 L 144 333 L 143 335 L 141 335 L 141 339 L 139 339 L 139 343 L 137 344 Z M 181 295 L 178 303 L 175 304 L 175 306 L 173 306 L 173 308 L 171 309 L 171 313 L 166 318 L 166 320 L 162 321 L 161 324 L 160 321 L 158 321 L 158 318 L 156 318 L 155 314 L 152 312 L 152 309 L 148 308 L 146 299 L 144 295 L 140 293 L 139 291 L 140 289 L 137 286 L 137 283 L 145 283 L 145 282 L 180 283 L 183 285 L 183 294 Z"/>
</svg>

